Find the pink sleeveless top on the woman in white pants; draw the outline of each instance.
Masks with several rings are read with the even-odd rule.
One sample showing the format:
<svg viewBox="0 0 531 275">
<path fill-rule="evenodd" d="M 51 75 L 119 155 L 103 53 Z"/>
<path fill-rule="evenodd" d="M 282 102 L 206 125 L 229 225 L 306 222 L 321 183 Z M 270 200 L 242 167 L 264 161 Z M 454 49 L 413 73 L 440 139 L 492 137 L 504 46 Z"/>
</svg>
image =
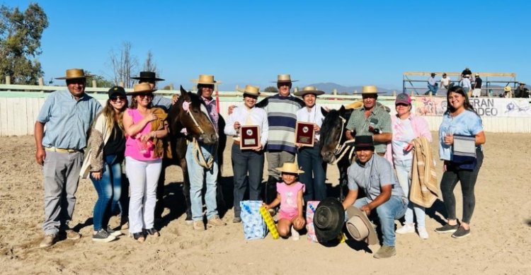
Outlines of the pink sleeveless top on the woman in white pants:
<svg viewBox="0 0 531 275">
<path fill-rule="evenodd" d="M 127 109 L 127 113 L 132 117 L 133 123 L 137 123 L 144 119 L 137 109 Z M 125 156 L 134 158 L 135 160 L 156 159 L 153 158 L 155 146 L 151 140 L 148 141 L 147 144 L 142 144 L 142 142 L 136 138 L 141 134 L 149 134 L 150 131 L 152 131 L 152 123 L 148 122 L 142 131 L 139 131 L 136 136 L 127 136 L 127 139 L 125 140 Z"/>
</svg>

